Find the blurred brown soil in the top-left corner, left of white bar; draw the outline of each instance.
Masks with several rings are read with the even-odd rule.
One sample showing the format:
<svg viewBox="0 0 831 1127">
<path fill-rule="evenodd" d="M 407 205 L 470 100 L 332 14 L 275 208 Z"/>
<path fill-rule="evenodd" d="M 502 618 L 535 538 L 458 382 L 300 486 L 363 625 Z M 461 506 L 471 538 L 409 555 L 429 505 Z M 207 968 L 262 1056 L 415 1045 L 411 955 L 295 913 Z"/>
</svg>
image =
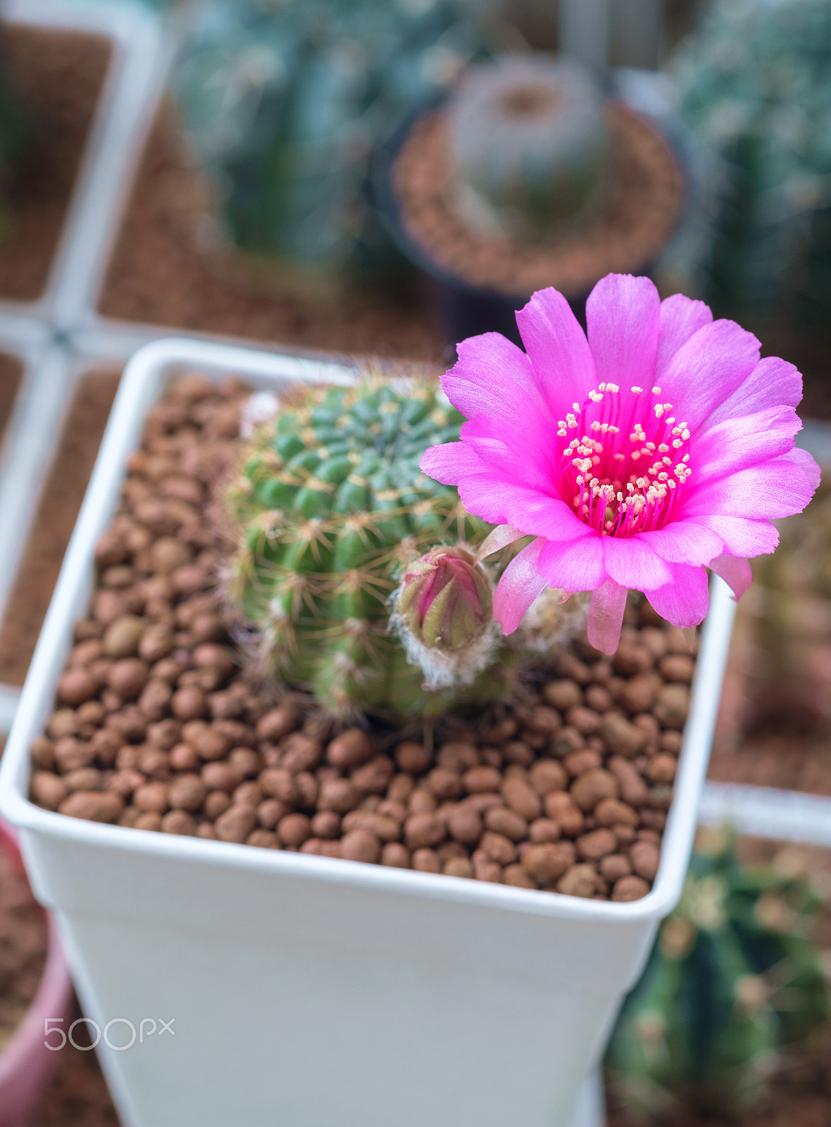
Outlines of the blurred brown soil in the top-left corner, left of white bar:
<svg viewBox="0 0 831 1127">
<path fill-rule="evenodd" d="M 0 299 L 34 301 L 48 279 L 111 54 L 80 32 L 0 26 L 0 62 L 25 118 L 0 238 Z"/>
</svg>

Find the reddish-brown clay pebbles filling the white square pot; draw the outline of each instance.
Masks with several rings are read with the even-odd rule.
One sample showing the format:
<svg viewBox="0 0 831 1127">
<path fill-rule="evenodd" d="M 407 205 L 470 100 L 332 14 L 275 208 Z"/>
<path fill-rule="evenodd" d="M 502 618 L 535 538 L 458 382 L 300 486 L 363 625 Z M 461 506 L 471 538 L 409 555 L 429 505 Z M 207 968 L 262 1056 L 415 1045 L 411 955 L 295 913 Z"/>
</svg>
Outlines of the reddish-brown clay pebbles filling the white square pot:
<svg viewBox="0 0 831 1127">
<path fill-rule="evenodd" d="M 34 800 L 144 831 L 644 896 L 689 704 L 681 632 L 644 602 L 611 660 L 561 647 L 477 722 L 332 729 L 250 678 L 218 598 L 220 497 L 248 394 L 188 375 L 151 411 L 32 746 Z"/>
</svg>

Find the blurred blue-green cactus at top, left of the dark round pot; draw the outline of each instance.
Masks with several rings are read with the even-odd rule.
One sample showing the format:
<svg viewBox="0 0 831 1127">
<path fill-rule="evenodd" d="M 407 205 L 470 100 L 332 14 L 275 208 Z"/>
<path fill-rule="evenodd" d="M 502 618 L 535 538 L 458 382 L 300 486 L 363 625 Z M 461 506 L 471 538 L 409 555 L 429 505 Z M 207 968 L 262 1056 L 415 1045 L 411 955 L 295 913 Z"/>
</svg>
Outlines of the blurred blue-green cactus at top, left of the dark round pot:
<svg viewBox="0 0 831 1127">
<path fill-rule="evenodd" d="M 173 89 L 225 236 L 316 286 L 392 272 L 372 151 L 484 50 L 465 0 L 209 0 Z"/>
</svg>

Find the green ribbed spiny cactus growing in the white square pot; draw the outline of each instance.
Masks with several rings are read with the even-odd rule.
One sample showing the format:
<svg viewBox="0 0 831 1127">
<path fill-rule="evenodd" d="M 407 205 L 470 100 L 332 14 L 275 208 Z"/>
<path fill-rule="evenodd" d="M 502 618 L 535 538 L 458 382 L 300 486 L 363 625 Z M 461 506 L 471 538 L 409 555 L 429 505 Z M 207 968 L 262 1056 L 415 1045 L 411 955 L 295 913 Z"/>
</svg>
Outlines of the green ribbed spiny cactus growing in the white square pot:
<svg viewBox="0 0 831 1127">
<path fill-rule="evenodd" d="M 229 498 L 240 548 L 227 595 L 256 630 L 261 669 L 339 717 L 440 715 L 506 695 L 490 579 L 458 550 L 490 526 L 419 470 L 427 446 L 458 438 L 462 416 L 419 380 L 298 394 L 257 429 Z M 450 545 L 446 568 L 429 552 L 439 544 Z M 410 629 L 413 592 L 432 605 L 423 630 Z M 443 640 L 434 620 L 445 612 Z"/>
</svg>

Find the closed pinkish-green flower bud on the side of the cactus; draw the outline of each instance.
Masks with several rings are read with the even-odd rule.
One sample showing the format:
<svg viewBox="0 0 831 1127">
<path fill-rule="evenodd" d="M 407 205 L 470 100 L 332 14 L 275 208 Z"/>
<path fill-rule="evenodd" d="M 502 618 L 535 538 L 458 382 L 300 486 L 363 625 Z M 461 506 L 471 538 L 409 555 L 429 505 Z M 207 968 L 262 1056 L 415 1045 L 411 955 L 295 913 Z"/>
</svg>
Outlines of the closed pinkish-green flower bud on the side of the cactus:
<svg viewBox="0 0 831 1127">
<path fill-rule="evenodd" d="M 408 567 L 395 613 L 401 627 L 423 646 L 461 653 L 493 620 L 491 580 L 467 549 L 434 548 Z"/>
</svg>

